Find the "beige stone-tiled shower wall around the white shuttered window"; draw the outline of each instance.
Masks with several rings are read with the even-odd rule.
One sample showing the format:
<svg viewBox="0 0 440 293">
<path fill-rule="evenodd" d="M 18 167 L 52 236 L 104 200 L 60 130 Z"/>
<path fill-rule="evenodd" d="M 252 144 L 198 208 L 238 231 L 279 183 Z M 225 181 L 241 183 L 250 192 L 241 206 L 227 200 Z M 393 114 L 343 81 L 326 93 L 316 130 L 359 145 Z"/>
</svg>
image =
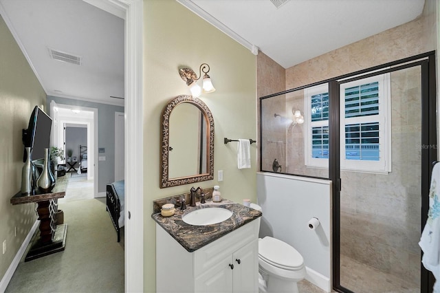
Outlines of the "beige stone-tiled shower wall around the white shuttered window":
<svg viewBox="0 0 440 293">
<path fill-rule="evenodd" d="M 435 1 L 427 0 L 423 14 L 415 21 L 285 69 L 285 89 L 435 50 L 435 9 Z M 267 81 L 275 83 L 276 76 L 270 68 L 273 65 L 265 60 L 267 56 L 260 55 L 257 58 L 260 72 L 258 95 L 265 96 L 278 91 L 270 92 L 273 84 Z M 392 80 L 393 172 L 388 175 L 342 172 L 341 221 L 348 225 L 342 224 L 341 234 L 351 236 L 341 239 L 341 251 L 418 282 L 421 166 L 420 105 L 419 96 L 415 93 L 419 93 L 420 89 L 415 82 L 419 82 L 419 72 L 417 69 L 395 72 Z M 286 129 L 276 124 L 276 120 L 269 122 L 274 119 L 276 111 L 290 113 L 294 107 L 304 113 L 303 91 L 270 100 L 272 104 L 265 101 L 263 105 L 263 120 L 264 125 L 272 127 L 270 132 L 265 133 L 272 133 L 273 137 L 260 139 L 263 143 L 263 170 L 272 170 L 272 161 L 283 153 L 279 145 L 266 144 L 267 140 L 283 141 L 286 144 L 283 164 L 287 165 L 287 169 L 283 166 L 283 172 L 327 177 L 327 171 L 306 169 L 304 166 L 303 125 Z"/>
</svg>

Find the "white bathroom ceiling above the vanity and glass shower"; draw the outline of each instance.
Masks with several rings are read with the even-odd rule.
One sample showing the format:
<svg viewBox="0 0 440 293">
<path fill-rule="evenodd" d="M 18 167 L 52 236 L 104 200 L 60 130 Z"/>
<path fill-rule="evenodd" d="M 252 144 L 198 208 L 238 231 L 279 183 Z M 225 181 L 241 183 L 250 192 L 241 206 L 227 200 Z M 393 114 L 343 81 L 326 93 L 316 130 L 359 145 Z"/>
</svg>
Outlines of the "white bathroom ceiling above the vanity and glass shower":
<svg viewBox="0 0 440 293">
<path fill-rule="evenodd" d="M 418 17 L 424 0 L 177 0 L 288 68 Z M 247 43 L 247 44 L 246 44 Z"/>
</svg>

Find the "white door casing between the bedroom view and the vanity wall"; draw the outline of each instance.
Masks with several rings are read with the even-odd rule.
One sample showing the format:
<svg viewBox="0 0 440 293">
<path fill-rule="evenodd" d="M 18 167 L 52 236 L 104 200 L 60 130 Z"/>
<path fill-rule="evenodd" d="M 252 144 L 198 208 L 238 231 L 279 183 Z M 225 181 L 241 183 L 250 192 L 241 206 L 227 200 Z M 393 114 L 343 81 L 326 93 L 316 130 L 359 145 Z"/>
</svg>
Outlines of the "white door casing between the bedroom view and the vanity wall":
<svg viewBox="0 0 440 293">
<path fill-rule="evenodd" d="M 125 292 L 144 291 L 143 5 L 142 0 L 87 0 L 125 19 Z"/>
</svg>

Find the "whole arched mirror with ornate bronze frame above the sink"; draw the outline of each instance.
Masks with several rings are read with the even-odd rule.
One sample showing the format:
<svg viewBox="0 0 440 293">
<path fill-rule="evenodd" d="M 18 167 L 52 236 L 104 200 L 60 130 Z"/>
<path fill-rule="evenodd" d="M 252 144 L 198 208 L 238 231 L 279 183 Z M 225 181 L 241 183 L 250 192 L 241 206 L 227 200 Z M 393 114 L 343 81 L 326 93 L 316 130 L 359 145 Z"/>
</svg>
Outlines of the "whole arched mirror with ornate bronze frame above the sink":
<svg viewBox="0 0 440 293">
<path fill-rule="evenodd" d="M 199 98 L 177 96 L 162 111 L 160 188 L 214 179 L 214 119 Z"/>
</svg>

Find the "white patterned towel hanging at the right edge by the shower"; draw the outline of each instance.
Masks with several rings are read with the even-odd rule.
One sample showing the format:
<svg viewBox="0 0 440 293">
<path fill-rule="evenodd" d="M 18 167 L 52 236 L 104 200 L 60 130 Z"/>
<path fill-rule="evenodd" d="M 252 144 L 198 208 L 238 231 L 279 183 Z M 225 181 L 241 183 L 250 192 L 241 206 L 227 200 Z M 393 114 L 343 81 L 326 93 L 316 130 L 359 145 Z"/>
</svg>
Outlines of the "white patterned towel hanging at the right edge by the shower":
<svg viewBox="0 0 440 293">
<path fill-rule="evenodd" d="M 426 270 L 430 270 L 436 282 L 434 293 L 440 293 L 440 163 L 432 168 L 431 186 L 429 191 L 429 210 L 425 228 L 421 232 L 419 246 L 423 251 L 421 262 Z"/>
</svg>

